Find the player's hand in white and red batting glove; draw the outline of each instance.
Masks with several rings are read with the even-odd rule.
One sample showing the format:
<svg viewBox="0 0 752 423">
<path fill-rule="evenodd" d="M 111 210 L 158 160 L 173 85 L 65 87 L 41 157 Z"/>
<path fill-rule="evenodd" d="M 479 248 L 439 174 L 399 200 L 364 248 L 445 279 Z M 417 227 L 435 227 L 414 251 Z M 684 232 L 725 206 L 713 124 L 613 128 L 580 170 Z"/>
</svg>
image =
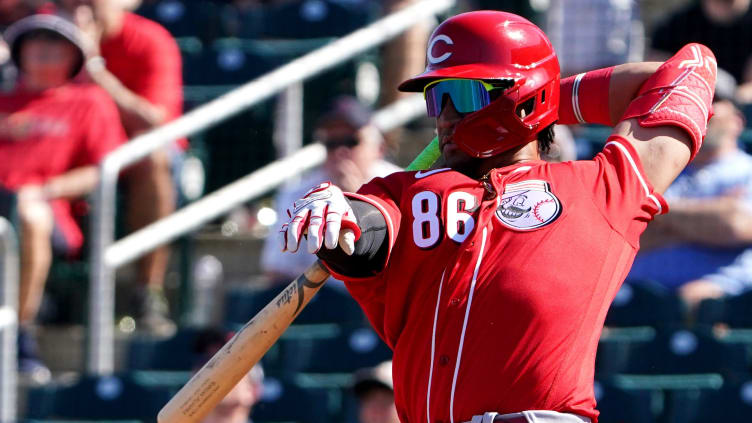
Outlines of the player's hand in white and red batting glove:
<svg viewBox="0 0 752 423">
<path fill-rule="evenodd" d="M 347 255 L 355 251 L 360 228 L 342 190 L 331 182 L 308 191 L 288 214 L 290 220 L 279 231 L 282 251 L 298 251 L 304 234 L 308 234 L 309 253 L 318 252 L 322 243 L 328 249 L 339 244 Z"/>
</svg>

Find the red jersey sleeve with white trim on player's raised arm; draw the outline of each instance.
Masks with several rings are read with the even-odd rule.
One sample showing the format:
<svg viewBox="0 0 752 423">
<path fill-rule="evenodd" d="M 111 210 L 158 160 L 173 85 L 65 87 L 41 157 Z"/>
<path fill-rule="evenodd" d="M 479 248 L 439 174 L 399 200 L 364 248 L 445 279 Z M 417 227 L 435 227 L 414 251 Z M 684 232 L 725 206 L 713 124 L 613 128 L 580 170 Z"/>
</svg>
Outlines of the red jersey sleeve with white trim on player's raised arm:
<svg viewBox="0 0 752 423">
<path fill-rule="evenodd" d="M 635 248 L 648 222 L 668 212 L 666 200 L 645 177 L 637 152 L 622 137 L 610 137 L 593 160 L 574 166 L 603 217 Z"/>
</svg>

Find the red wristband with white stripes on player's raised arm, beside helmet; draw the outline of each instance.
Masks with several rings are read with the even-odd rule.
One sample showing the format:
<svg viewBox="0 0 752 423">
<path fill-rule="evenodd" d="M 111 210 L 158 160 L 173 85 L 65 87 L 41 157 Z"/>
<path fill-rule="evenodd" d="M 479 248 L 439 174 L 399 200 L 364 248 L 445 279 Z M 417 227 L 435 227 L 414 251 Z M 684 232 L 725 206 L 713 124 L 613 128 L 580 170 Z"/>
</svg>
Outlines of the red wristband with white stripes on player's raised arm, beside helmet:
<svg viewBox="0 0 752 423">
<path fill-rule="evenodd" d="M 613 71 L 612 66 L 562 80 L 559 123 L 597 123 L 612 126 L 608 92 Z"/>
</svg>

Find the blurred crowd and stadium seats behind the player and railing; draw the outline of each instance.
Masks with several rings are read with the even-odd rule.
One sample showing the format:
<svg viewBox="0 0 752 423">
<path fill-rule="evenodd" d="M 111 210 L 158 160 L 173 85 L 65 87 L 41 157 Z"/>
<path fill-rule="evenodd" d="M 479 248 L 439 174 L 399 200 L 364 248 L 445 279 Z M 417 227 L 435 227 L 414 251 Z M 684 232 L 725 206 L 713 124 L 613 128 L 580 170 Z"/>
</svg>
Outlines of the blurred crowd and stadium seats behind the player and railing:
<svg viewBox="0 0 752 423">
<path fill-rule="evenodd" d="M 88 196 L 102 160 L 416 2 L 0 0 L 0 216 L 20 239 L 22 416 L 155 421 L 229 334 L 314 261 L 276 245 L 292 202 L 325 180 L 357 190 L 434 136 L 426 118 L 382 132 L 374 116 L 423 70 L 438 20 L 305 80 L 302 119 L 289 119 L 288 92 L 120 173 L 118 237 L 301 145 L 326 150 L 320 166 L 118 271 L 116 373 L 106 377 L 84 371 L 83 352 L 86 305 L 97 301 L 87 294 Z M 549 35 L 562 76 L 663 60 L 689 42 L 709 46 L 722 69 L 703 148 L 666 192 L 671 213 L 648 227 L 606 319 L 594 386 L 603 423 L 752 415 L 751 3 L 464 0 L 452 10 L 527 17 Z M 591 158 L 608 133 L 557 128 L 546 159 Z M 207 421 L 396 423 L 390 356 L 330 281 Z"/>
</svg>

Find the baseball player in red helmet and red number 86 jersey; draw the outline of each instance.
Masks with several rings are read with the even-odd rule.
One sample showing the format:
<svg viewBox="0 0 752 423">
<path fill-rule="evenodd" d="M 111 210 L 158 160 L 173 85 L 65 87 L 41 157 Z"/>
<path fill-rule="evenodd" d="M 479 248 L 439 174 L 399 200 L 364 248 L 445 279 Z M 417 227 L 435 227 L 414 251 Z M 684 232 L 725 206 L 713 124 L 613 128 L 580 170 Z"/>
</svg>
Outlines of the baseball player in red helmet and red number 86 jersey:
<svg viewBox="0 0 752 423">
<path fill-rule="evenodd" d="M 478 11 L 437 27 L 427 63 L 400 89 L 425 94 L 440 164 L 358 193 L 321 184 L 295 202 L 283 249 L 307 234 L 346 281 L 394 351 L 403 422 L 596 422 L 603 321 L 700 148 L 713 53 L 560 81 L 538 27 Z M 614 130 L 593 160 L 546 163 L 557 120 Z"/>
</svg>

